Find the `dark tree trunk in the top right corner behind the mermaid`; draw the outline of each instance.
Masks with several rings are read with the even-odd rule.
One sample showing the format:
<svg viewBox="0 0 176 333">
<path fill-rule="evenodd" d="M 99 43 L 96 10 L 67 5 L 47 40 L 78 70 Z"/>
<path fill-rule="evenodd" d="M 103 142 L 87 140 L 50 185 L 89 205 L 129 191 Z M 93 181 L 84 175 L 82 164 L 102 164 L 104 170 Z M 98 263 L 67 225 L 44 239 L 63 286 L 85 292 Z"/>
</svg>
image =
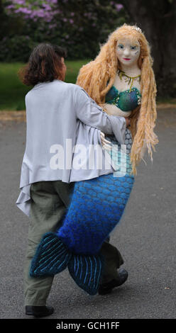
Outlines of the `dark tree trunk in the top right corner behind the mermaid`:
<svg viewBox="0 0 176 333">
<path fill-rule="evenodd" d="M 176 96 L 176 1 L 121 0 L 130 24 L 143 30 L 151 47 L 158 96 Z"/>
</svg>

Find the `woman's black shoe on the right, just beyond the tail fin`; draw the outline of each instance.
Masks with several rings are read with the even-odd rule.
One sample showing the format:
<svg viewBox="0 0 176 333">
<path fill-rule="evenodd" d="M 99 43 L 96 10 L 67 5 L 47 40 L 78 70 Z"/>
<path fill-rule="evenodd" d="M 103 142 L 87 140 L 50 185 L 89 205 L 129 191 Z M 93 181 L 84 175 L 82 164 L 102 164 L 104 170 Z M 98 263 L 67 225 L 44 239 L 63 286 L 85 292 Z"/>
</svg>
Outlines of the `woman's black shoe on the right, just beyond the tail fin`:
<svg viewBox="0 0 176 333">
<path fill-rule="evenodd" d="M 99 286 L 99 295 L 106 295 L 111 293 L 112 289 L 121 286 L 128 278 L 128 271 L 125 269 L 119 269 L 119 278 L 113 279 L 107 283 L 103 283 Z"/>
</svg>

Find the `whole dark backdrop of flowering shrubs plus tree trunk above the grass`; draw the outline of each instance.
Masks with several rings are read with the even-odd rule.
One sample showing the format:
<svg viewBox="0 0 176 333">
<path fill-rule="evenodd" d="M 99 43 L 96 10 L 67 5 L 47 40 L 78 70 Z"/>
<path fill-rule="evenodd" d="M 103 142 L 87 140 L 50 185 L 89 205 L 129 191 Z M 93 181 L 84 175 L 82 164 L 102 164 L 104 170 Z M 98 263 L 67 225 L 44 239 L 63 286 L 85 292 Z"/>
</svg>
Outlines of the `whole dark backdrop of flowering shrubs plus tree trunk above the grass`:
<svg viewBox="0 0 176 333">
<path fill-rule="evenodd" d="M 119 3 L 120 1 L 120 3 Z M 35 45 L 67 49 L 68 60 L 94 59 L 124 22 L 145 33 L 158 96 L 176 96 L 176 0 L 0 0 L 0 62 L 27 62 Z"/>
</svg>

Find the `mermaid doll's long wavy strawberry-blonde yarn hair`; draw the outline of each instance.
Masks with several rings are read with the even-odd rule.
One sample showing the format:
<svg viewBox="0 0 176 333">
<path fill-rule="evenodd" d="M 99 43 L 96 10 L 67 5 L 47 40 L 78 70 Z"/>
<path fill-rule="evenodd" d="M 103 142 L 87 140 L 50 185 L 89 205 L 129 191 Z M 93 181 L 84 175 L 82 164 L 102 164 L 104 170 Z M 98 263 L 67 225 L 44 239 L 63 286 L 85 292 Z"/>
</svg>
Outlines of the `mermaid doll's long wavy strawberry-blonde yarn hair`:
<svg viewBox="0 0 176 333">
<path fill-rule="evenodd" d="M 82 86 L 94 101 L 102 108 L 106 93 L 114 84 L 114 79 L 121 64 L 116 55 L 116 44 L 120 38 L 128 37 L 133 42 L 138 40 L 141 53 L 138 58 L 138 67 L 141 69 L 141 105 L 131 113 L 131 134 L 133 145 L 131 147 L 131 163 L 133 174 L 136 174 L 136 165 L 141 160 L 141 149 L 144 142 L 148 147 L 148 154 L 152 157 L 152 148 L 158 143 L 158 137 L 153 132 L 155 128 L 156 113 L 156 84 L 153 73 L 153 59 L 150 56 L 150 46 L 143 33 L 136 30 L 136 26 L 123 24 L 117 28 L 107 42 L 101 47 L 95 60 L 84 65 L 79 70 L 77 84 Z M 106 112 L 106 109 L 104 109 Z"/>
</svg>

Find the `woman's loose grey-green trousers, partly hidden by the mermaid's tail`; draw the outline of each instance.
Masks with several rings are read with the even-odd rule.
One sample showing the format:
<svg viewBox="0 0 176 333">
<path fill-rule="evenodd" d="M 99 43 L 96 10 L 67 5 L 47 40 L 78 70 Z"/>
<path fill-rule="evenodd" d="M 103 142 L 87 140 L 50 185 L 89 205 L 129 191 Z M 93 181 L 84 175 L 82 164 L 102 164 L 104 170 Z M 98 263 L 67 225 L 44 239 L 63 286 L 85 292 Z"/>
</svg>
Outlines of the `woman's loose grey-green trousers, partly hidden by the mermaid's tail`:
<svg viewBox="0 0 176 333">
<path fill-rule="evenodd" d="M 31 185 L 31 219 L 24 267 L 25 305 L 46 304 L 54 276 L 31 278 L 31 260 L 43 234 L 61 227 L 60 219 L 70 203 L 73 186 L 73 183 L 62 181 L 39 181 Z M 112 278 L 118 278 L 117 269 L 123 264 L 123 259 L 119 250 L 109 243 L 109 239 L 102 244 L 101 254 L 105 257 L 101 283 L 106 283 Z"/>
</svg>

